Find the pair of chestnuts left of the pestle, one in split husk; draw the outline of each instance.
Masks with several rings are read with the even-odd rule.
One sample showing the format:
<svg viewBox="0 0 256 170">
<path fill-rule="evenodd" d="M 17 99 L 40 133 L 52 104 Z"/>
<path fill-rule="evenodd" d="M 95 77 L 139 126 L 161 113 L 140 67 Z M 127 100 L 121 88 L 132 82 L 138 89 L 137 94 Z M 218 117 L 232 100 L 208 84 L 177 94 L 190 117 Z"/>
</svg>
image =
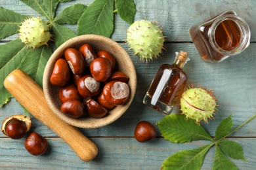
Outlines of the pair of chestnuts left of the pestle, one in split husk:
<svg viewBox="0 0 256 170">
<path fill-rule="evenodd" d="M 17 114 L 6 118 L 1 131 L 11 139 L 22 139 L 30 131 L 32 120 L 28 116 Z M 33 156 L 42 155 L 48 148 L 47 140 L 38 133 L 32 132 L 26 137 L 24 146 Z"/>
</svg>

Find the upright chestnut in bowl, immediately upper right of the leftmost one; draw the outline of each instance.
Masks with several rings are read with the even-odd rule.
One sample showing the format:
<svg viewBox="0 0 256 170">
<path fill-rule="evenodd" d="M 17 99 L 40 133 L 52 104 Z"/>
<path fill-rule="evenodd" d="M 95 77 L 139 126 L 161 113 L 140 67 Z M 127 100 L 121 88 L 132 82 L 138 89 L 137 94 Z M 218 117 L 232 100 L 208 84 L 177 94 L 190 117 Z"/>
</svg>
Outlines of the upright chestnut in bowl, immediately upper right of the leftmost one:
<svg viewBox="0 0 256 170">
<path fill-rule="evenodd" d="M 85 71 L 85 59 L 83 59 L 83 55 L 79 50 L 68 48 L 65 50 L 64 56 L 74 75 L 79 75 Z"/>
</svg>

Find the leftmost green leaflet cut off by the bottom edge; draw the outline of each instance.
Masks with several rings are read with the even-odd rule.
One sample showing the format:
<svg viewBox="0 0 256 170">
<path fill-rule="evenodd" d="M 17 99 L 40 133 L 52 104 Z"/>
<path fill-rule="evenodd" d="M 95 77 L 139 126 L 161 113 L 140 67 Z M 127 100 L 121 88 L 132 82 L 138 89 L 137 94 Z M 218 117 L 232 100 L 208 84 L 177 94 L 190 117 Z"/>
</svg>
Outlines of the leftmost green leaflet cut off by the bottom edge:
<svg viewBox="0 0 256 170">
<path fill-rule="evenodd" d="M 212 144 L 206 144 L 200 148 L 192 150 L 182 150 L 173 154 L 167 160 L 163 161 L 161 165 L 161 170 L 164 169 L 200 169 L 205 158 L 205 154 L 208 152 L 209 148 L 213 146 Z"/>
</svg>

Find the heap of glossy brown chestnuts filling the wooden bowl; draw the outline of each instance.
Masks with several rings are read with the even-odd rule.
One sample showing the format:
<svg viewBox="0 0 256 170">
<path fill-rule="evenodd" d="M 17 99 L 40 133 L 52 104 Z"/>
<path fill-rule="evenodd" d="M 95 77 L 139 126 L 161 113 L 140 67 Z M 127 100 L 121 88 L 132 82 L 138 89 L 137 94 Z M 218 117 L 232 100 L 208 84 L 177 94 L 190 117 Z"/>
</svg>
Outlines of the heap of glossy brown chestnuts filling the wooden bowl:
<svg viewBox="0 0 256 170">
<path fill-rule="evenodd" d="M 116 58 L 91 44 L 68 48 L 54 63 L 50 82 L 59 88 L 60 110 L 71 118 L 102 118 L 130 97 L 129 77 L 116 71 Z"/>
</svg>

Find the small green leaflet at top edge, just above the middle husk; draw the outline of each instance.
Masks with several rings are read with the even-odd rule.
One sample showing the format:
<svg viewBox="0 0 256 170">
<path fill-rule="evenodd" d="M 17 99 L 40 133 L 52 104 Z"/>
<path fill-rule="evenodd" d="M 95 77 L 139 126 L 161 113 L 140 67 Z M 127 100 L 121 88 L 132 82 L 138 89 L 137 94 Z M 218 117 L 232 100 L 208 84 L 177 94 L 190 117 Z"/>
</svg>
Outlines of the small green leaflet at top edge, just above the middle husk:
<svg viewBox="0 0 256 170">
<path fill-rule="evenodd" d="M 128 24 L 133 24 L 136 13 L 134 0 L 116 0 L 116 9 L 119 16 Z"/>
</svg>

